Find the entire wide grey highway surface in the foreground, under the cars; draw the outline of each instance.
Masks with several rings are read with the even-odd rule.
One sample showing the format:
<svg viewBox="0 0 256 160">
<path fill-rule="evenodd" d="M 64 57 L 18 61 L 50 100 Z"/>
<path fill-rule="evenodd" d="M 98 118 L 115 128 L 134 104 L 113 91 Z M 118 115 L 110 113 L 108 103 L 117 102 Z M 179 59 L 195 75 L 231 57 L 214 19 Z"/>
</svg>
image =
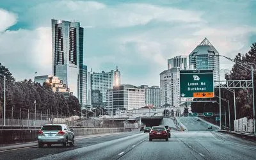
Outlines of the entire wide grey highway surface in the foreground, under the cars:
<svg viewBox="0 0 256 160">
<path fill-rule="evenodd" d="M 76 147 L 0 151 L 0 159 L 256 159 L 256 143 L 217 131 L 172 131 L 169 141 L 125 132 L 76 140 Z"/>
</svg>

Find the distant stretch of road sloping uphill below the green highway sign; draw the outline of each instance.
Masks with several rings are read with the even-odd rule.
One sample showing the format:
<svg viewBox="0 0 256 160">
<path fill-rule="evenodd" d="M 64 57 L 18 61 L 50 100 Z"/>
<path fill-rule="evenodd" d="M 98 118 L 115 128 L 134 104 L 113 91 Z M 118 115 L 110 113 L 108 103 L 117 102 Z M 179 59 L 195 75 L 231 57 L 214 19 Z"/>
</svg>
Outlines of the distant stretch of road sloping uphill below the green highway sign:
<svg viewBox="0 0 256 160">
<path fill-rule="evenodd" d="M 208 125 L 206 122 L 202 120 L 198 120 L 197 117 L 193 116 L 180 116 L 177 119 L 186 126 L 188 131 L 214 131 L 217 128 L 212 126 L 212 129 L 208 129 Z"/>
</svg>

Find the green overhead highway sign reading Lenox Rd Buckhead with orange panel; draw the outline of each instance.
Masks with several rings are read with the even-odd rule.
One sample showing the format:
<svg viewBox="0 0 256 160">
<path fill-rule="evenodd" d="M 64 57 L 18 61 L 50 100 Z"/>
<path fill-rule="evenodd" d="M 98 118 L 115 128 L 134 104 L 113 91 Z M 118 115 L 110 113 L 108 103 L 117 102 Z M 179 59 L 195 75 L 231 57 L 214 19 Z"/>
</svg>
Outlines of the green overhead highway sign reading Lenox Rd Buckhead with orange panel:
<svg viewBox="0 0 256 160">
<path fill-rule="evenodd" d="M 214 97 L 213 70 L 180 70 L 180 97 Z"/>
</svg>

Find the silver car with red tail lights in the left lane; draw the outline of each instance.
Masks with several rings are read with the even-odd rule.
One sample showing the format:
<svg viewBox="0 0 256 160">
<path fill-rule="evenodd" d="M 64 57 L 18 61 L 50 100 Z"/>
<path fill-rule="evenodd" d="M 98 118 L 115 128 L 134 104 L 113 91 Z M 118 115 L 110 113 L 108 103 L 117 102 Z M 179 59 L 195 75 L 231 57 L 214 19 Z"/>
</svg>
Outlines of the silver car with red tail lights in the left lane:
<svg viewBox="0 0 256 160">
<path fill-rule="evenodd" d="M 51 147 L 52 144 L 62 144 L 63 147 L 74 146 L 74 131 L 69 129 L 65 124 L 46 124 L 38 131 L 38 147 L 44 147 L 47 144 Z"/>
</svg>

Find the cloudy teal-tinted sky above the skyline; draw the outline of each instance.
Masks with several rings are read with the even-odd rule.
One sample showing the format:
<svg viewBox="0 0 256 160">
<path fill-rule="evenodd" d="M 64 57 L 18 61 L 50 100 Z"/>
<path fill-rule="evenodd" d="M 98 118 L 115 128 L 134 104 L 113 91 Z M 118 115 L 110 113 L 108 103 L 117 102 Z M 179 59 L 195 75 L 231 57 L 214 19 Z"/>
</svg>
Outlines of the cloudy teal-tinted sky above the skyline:
<svg viewBox="0 0 256 160">
<path fill-rule="evenodd" d="M 255 0 L 0 1 L 0 63 L 17 81 L 52 74 L 51 19 L 81 23 L 88 70 L 117 65 L 121 83 L 135 86 L 159 85 L 167 60 L 205 37 L 230 58 L 256 42 Z"/>
</svg>

